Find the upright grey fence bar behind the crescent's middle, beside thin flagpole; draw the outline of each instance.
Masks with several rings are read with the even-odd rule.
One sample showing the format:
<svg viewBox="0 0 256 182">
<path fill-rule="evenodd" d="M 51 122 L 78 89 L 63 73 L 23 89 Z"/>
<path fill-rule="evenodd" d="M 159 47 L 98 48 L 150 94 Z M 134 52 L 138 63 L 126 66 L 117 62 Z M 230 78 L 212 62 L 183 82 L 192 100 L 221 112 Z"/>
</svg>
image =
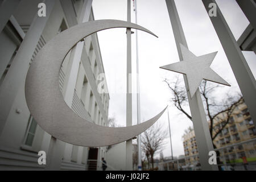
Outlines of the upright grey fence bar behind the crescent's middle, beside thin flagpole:
<svg viewBox="0 0 256 182">
<path fill-rule="evenodd" d="M 131 22 L 131 1 L 127 0 L 127 22 Z M 127 72 L 126 72 L 126 126 L 133 125 L 132 94 L 131 94 L 131 28 L 126 28 L 127 34 Z M 126 141 L 126 170 L 133 170 L 132 139 Z"/>
</svg>

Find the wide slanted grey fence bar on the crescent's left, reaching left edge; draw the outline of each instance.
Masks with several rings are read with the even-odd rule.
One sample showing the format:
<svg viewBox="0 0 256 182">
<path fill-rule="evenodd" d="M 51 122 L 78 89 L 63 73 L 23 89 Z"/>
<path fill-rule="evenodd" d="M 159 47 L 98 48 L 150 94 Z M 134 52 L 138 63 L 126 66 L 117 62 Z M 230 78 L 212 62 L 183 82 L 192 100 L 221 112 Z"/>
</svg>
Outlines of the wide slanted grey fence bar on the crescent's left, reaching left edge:
<svg viewBox="0 0 256 182">
<path fill-rule="evenodd" d="M 5 80 L 3 80 L 0 88 L 0 134 L 5 127 L 6 119 L 13 105 L 15 96 L 20 86 L 25 82 L 28 65 L 35 51 L 36 44 L 46 26 L 46 22 L 51 14 L 55 1 L 46 0 L 46 17 L 38 17 L 36 13 L 30 28 L 27 31 L 22 43 L 19 46 L 18 52 L 13 59 L 13 63 Z"/>
</svg>

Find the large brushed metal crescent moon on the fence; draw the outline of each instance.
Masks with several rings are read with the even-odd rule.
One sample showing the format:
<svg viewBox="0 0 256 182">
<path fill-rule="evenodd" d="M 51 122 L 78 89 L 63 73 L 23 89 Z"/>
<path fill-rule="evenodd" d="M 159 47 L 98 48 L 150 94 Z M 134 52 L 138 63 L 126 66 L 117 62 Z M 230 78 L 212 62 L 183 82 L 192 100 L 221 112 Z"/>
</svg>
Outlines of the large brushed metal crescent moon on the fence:
<svg viewBox="0 0 256 182">
<path fill-rule="evenodd" d="M 141 134 L 166 110 L 139 125 L 105 127 L 79 117 L 65 103 L 59 88 L 59 73 L 68 51 L 94 32 L 117 27 L 136 28 L 156 36 L 134 23 L 121 20 L 95 20 L 78 24 L 56 35 L 39 51 L 32 62 L 25 84 L 28 109 L 38 125 L 53 137 L 77 146 L 109 146 Z"/>
</svg>

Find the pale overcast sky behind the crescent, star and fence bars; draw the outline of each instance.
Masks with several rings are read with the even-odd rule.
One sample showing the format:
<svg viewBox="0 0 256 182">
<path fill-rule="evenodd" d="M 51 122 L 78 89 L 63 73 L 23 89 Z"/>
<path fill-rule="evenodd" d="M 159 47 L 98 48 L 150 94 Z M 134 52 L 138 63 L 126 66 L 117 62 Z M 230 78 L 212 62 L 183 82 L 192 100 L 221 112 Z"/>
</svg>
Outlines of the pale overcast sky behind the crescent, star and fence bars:
<svg viewBox="0 0 256 182">
<path fill-rule="evenodd" d="M 131 1 L 133 10 L 133 1 Z M 181 24 L 187 39 L 188 48 L 200 56 L 218 51 L 211 68 L 229 82 L 231 87 L 224 86 L 217 90 L 218 98 L 225 100 L 225 94 L 240 92 L 237 81 L 230 68 L 228 59 L 221 47 L 217 34 L 210 22 L 207 11 L 201 0 L 175 1 Z M 236 40 L 249 24 L 235 0 L 218 0 Z M 94 18 L 127 20 L 126 0 L 93 0 Z M 160 69 L 159 67 L 179 61 L 174 35 L 164 0 L 138 0 L 138 24 L 154 32 L 159 38 L 138 31 L 139 72 L 141 86 L 141 119 L 142 122 L 154 117 L 168 104 L 171 92 L 163 82 L 164 78 L 174 80 L 179 73 Z M 134 11 L 131 22 L 135 23 Z M 98 32 L 102 61 L 109 88 L 109 117 L 115 117 L 119 125 L 126 125 L 126 30 L 114 28 Z M 132 35 L 132 64 L 136 73 L 135 34 Z M 243 52 L 251 71 L 256 75 L 256 59 L 254 52 Z M 183 77 L 180 75 L 181 81 Z M 136 82 L 133 81 L 133 90 Z M 133 125 L 137 124 L 136 94 L 133 94 Z M 187 107 L 188 109 L 188 107 Z M 189 110 L 189 109 L 188 109 Z M 174 156 L 184 155 L 182 135 L 184 130 L 192 126 L 192 122 L 172 105 L 169 107 L 172 148 Z M 167 112 L 159 119 L 168 128 Z M 167 136 L 169 137 L 169 136 Z M 166 139 L 164 156 L 170 156 L 170 139 Z"/>
</svg>

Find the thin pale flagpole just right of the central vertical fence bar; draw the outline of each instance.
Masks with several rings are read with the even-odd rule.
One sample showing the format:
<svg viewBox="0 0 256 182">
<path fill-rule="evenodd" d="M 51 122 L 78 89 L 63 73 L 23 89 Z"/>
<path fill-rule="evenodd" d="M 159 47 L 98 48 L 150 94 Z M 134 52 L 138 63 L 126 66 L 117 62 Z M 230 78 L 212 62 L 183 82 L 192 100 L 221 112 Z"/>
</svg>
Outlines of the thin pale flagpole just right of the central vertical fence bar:
<svg viewBox="0 0 256 182">
<path fill-rule="evenodd" d="M 137 0 L 134 0 L 135 6 L 135 23 L 137 24 Z M 136 33 L 136 63 L 137 63 L 137 123 L 141 123 L 141 97 L 139 89 L 139 51 L 138 51 L 138 31 Z M 141 171 L 141 135 L 138 135 L 138 170 Z"/>
</svg>

